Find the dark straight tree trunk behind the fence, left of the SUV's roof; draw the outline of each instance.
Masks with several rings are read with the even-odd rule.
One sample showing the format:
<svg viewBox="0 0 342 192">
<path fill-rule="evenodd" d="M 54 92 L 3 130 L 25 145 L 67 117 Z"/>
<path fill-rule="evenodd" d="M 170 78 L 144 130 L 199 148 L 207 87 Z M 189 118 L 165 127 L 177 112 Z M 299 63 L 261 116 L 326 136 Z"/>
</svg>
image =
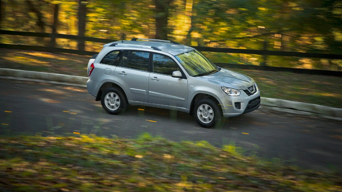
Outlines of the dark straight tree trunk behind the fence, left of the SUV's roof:
<svg viewBox="0 0 342 192">
<path fill-rule="evenodd" d="M 86 31 L 87 0 L 78 0 L 78 36 Z M 84 41 L 78 41 L 78 50 L 84 51 Z"/>
</svg>

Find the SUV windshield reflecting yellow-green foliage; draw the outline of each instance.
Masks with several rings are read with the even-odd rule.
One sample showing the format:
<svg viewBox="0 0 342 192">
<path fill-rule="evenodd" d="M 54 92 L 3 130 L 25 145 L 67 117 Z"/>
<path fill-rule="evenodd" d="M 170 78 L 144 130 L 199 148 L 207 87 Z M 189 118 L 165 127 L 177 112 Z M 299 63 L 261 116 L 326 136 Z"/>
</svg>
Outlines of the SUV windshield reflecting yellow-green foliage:
<svg viewBox="0 0 342 192">
<path fill-rule="evenodd" d="M 207 57 L 197 50 L 188 51 L 175 56 L 190 76 L 203 76 L 218 70 Z"/>
</svg>

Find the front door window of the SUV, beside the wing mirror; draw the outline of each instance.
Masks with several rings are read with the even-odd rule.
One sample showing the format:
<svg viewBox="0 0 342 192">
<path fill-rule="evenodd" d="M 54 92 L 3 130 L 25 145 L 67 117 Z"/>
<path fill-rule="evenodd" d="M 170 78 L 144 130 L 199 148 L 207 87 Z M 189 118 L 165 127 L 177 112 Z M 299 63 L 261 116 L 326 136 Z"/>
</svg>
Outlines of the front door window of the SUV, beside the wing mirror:
<svg viewBox="0 0 342 192">
<path fill-rule="evenodd" d="M 173 71 L 179 71 L 179 68 L 170 57 L 153 54 L 152 72 L 172 76 Z"/>
</svg>

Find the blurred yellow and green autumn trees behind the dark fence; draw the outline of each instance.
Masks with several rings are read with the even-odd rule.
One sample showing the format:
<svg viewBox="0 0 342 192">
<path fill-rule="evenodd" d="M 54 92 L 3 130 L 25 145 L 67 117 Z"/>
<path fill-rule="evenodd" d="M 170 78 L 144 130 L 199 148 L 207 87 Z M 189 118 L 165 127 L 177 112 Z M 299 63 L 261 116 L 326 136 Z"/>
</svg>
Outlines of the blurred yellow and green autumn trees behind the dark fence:
<svg viewBox="0 0 342 192">
<path fill-rule="evenodd" d="M 99 52 L 103 42 L 79 37 L 119 40 L 115 27 L 126 40 L 152 38 L 201 47 L 342 54 L 340 0 L 0 0 L 0 5 L 2 44 Z M 202 52 L 217 63 L 342 69 L 342 60 L 333 56 Z"/>
</svg>

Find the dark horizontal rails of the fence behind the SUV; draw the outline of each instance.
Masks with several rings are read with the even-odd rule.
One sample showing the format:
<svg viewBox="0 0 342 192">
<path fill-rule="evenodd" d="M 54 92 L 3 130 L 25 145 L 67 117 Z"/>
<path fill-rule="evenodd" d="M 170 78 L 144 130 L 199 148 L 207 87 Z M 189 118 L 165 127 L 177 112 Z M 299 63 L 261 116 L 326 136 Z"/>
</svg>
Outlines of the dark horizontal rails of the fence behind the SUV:
<svg viewBox="0 0 342 192">
<path fill-rule="evenodd" d="M 62 38 L 62 39 L 72 39 L 72 40 L 77 40 L 77 41 L 90 41 L 90 42 L 97 42 L 97 43 L 110 43 L 110 42 L 116 41 L 112 39 L 102 39 L 102 38 L 95 38 L 95 37 L 66 35 L 66 34 L 58 34 L 58 33 L 41 33 L 41 32 L 10 31 L 10 30 L 0 30 L 0 35 Z M 44 46 L 3 44 L 3 43 L 0 43 L 0 47 L 8 48 L 8 49 L 48 51 L 48 52 L 70 53 L 70 54 L 78 54 L 78 55 L 94 55 L 97 53 L 97 52 L 92 52 L 92 51 L 63 49 L 63 48 L 57 48 L 57 47 L 51 47 L 51 46 L 44 47 Z M 199 51 L 216 52 L 216 53 L 240 53 L 240 54 L 255 54 L 255 55 L 275 55 L 275 56 L 290 56 L 290 57 L 342 59 L 342 55 L 339 55 L 339 54 L 304 53 L 304 52 L 252 50 L 252 49 L 232 49 L 232 48 L 216 48 L 216 47 L 202 47 L 202 46 L 193 46 L 193 47 Z M 292 71 L 292 72 L 299 72 L 299 73 L 342 76 L 342 71 L 298 69 L 298 68 L 271 67 L 271 66 L 254 66 L 254 65 L 238 65 L 238 64 L 227 64 L 227 63 L 216 63 L 216 64 L 218 64 L 221 67 L 231 67 L 231 68 L 239 68 L 239 69 L 258 69 L 258 70 L 267 70 L 267 71 L 284 71 L 285 70 L 285 71 Z"/>
</svg>

